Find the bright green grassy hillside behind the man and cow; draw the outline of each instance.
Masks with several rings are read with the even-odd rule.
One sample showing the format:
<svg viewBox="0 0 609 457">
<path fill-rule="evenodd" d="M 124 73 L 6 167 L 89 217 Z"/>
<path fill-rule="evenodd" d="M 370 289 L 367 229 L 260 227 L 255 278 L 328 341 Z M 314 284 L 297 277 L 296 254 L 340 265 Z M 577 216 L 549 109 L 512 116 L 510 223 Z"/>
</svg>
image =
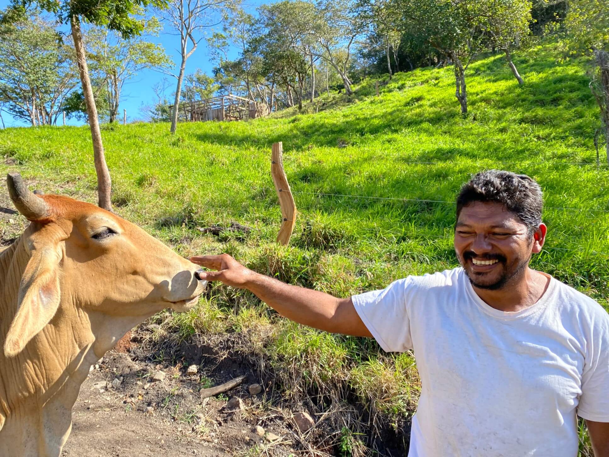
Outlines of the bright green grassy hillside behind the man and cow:
<svg viewBox="0 0 609 457">
<path fill-rule="evenodd" d="M 305 107 L 310 114 L 180 124 L 175 136 L 167 124 L 105 126 L 115 210 L 183 255 L 228 252 L 256 271 L 344 297 L 456 266 L 452 202 L 460 185 L 481 169 L 508 169 L 544 190 L 547 249 L 533 267 L 607 306 L 609 171 L 596 168 L 598 110 L 581 63 L 558 57 L 551 46 L 520 57 L 524 87 L 501 56 L 474 63 L 466 118 L 452 68 L 444 68 L 397 74 L 380 97 L 374 80 L 351 98 L 324 95 L 319 113 L 316 101 Z M 299 211 L 289 247 L 274 243 L 276 141 Z M 21 171 L 46 193 L 94 202 L 92 154 L 87 127 L 0 131 L 0 172 Z M 245 239 L 197 230 L 231 221 L 254 230 Z M 17 233 L 19 224 L 1 220 L 0 235 Z M 396 436 L 416 406 L 411 355 L 291 324 L 248 292 L 215 285 L 196 310 L 158 321 L 160 341 L 164 331 L 181 339 L 228 332 L 236 349 L 272 368 L 286 395 L 356 399 Z"/>
</svg>

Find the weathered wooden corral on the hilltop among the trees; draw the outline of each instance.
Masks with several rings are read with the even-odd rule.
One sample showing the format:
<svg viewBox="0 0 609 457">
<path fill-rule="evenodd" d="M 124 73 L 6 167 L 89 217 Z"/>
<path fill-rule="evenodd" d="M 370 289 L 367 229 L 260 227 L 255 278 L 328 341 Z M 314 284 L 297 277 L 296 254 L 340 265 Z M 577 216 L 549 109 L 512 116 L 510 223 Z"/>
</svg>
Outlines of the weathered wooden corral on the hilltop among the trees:
<svg viewBox="0 0 609 457">
<path fill-rule="evenodd" d="M 182 102 L 178 110 L 178 121 L 241 121 L 269 115 L 269 107 L 236 95 Z"/>
</svg>

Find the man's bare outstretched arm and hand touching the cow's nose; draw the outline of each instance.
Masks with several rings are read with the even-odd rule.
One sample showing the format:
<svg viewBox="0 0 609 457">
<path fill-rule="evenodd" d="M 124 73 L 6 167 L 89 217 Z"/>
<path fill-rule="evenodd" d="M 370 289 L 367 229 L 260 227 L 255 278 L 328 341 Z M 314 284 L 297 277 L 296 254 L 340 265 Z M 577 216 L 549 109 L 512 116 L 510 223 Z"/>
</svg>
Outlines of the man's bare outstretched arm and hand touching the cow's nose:
<svg viewBox="0 0 609 457">
<path fill-rule="evenodd" d="M 216 270 L 201 272 L 201 279 L 248 289 L 281 316 L 299 324 L 343 335 L 372 336 L 350 298 L 337 299 L 325 292 L 282 283 L 242 266 L 228 254 L 203 255 L 190 260 Z"/>
</svg>

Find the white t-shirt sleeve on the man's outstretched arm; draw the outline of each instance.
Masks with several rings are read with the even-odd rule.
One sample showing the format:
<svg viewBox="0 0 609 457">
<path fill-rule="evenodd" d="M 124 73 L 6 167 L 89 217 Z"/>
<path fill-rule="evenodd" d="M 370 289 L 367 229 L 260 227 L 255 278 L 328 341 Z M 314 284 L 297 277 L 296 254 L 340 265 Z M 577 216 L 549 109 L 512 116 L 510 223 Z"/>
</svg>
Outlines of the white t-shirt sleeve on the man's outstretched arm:
<svg viewBox="0 0 609 457">
<path fill-rule="evenodd" d="M 351 297 L 353 305 L 379 345 L 386 352 L 412 349 L 406 288 L 410 277 L 397 280 L 387 288 Z"/>
</svg>

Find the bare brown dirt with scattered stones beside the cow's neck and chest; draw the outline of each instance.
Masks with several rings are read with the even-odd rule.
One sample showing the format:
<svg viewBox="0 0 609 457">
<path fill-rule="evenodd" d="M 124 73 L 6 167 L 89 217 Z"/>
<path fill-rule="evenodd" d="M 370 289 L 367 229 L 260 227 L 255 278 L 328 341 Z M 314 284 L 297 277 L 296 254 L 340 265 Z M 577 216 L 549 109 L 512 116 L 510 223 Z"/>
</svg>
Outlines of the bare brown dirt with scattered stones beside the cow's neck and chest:
<svg viewBox="0 0 609 457">
<path fill-rule="evenodd" d="M 138 332 L 133 339 L 138 341 L 145 333 Z M 288 457 L 301 453 L 292 415 L 269 405 L 269 386 L 250 395 L 250 384 L 262 384 L 251 367 L 232 359 L 214 360 L 213 352 L 191 350 L 185 360 L 155 360 L 155 355 L 132 342 L 130 353 L 107 353 L 80 389 L 62 455 Z M 191 360 L 186 363 L 186 358 Z M 192 364 L 197 364 L 197 374 L 187 375 Z M 158 372 L 164 379 L 153 381 Z M 246 379 L 231 391 L 199 398 L 200 389 L 239 375 Z M 231 397 L 241 399 L 243 409 L 229 411 Z M 264 436 L 256 433 L 257 425 L 264 428 Z"/>
</svg>

